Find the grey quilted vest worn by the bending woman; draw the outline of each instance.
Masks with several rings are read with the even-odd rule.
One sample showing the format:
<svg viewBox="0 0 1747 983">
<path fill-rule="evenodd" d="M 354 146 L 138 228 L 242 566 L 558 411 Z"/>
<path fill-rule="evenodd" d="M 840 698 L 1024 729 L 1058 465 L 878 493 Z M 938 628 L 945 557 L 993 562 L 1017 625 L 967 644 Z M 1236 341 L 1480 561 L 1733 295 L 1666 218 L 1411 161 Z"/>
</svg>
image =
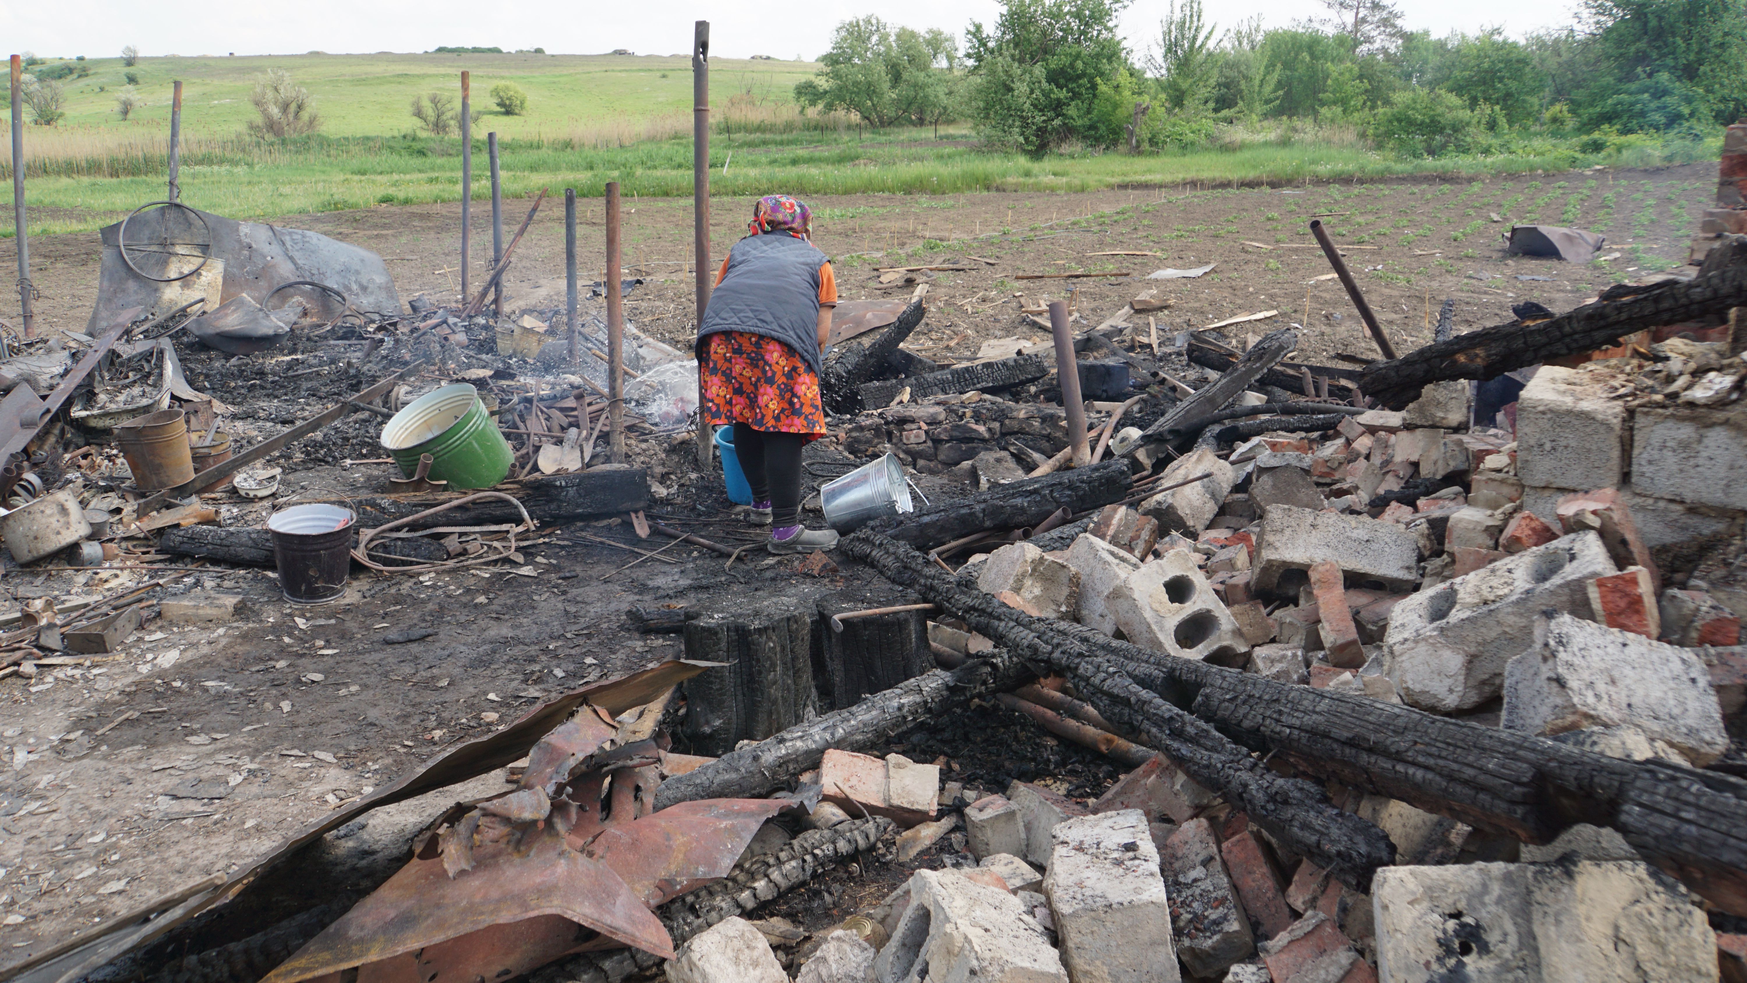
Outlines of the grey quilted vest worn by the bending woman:
<svg viewBox="0 0 1747 983">
<path fill-rule="evenodd" d="M 697 327 L 695 354 L 704 335 L 748 332 L 776 339 L 800 353 L 819 374 L 819 267 L 826 257 L 805 239 L 784 232 L 748 236 L 728 251 L 728 274 L 709 295 Z"/>
</svg>

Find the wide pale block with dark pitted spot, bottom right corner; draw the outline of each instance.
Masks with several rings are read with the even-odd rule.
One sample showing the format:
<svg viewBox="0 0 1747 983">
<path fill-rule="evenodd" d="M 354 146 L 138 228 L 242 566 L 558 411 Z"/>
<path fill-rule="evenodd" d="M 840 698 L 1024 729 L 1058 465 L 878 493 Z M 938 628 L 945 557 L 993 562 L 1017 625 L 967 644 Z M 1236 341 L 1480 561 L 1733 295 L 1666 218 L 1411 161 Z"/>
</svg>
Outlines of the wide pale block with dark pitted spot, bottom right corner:
<svg viewBox="0 0 1747 983">
<path fill-rule="evenodd" d="M 1705 913 L 1640 863 L 1380 868 L 1371 904 L 1389 983 L 1717 980 Z"/>
</svg>

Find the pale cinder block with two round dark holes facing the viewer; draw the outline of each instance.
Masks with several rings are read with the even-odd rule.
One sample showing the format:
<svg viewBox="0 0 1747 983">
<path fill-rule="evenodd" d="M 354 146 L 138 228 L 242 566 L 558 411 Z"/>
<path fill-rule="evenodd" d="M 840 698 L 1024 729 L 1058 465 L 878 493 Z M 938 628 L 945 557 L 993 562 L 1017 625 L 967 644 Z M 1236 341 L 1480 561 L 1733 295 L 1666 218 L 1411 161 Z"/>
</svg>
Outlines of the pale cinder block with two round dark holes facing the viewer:
<svg viewBox="0 0 1747 983">
<path fill-rule="evenodd" d="M 1111 588 L 1104 608 L 1123 637 L 1141 648 L 1219 665 L 1249 651 L 1191 550 L 1170 550 L 1141 564 Z"/>
</svg>

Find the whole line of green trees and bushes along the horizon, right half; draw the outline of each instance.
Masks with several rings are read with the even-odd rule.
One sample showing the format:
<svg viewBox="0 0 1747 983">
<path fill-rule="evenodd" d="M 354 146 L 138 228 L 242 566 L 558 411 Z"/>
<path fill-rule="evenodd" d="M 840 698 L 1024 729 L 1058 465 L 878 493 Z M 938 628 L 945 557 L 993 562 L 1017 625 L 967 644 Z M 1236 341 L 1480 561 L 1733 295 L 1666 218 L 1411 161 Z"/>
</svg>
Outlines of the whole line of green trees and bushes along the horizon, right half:
<svg viewBox="0 0 1747 983">
<path fill-rule="evenodd" d="M 1621 134 L 1705 136 L 1747 113 L 1747 0 L 1583 0 L 1574 24 L 1511 38 L 1433 37 L 1387 0 L 1322 0 L 1286 28 L 1221 30 L 1174 0 L 1132 52 L 1127 0 L 1003 0 L 952 35 L 858 17 L 839 24 L 802 107 L 868 126 L 971 120 L 992 145 L 1157 150 L 1219 124 L 1347 124 L 1413 155 L 1527 136 L 1602 148 Z"/>
</svg>

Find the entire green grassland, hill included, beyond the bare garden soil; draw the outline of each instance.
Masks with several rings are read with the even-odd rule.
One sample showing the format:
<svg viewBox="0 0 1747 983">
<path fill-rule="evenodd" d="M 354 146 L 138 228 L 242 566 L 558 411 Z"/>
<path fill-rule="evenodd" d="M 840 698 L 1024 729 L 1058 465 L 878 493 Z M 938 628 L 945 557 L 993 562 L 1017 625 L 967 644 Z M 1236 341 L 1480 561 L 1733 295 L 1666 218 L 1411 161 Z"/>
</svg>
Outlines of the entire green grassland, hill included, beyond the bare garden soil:
<svg viewBox="0 0 1747 983">
<path fill-rule="evenodd" d="M 575 187 L 597 197 L 617 180 L 627 196 L 690 196 L 690 65 L 685 58 L 540 54 L 381 54 L 142 59 L 150 105 L 115 119 L 124 68 L 98 59 L 68 80 L 68 119 L 26 127 L 24 173 L 33 232 L 91 230 L 162 197 L 169 80 L 183 91 L 183 201 L 236 218 L 458 201 L 458 138 L 412 133 L 418 93 L 458 93 L 473 73 L 473 196 L 489 197 L 484 134 L 501 134 L 510 197 Z M 248 93 L 266 68 L 285 68 L 316 96 L 316 136 L 267 141 L 245 133 Z M 1226 134 L 1221 147 L 1158 154 L 1060 154 L 1031 161 L 984 150 L 968 127 L 860 133 L 844 119 L 797 115 L 786 101 L 818 66 L 798 61 L 713 63 L 711 189 L 723 196 L 1080 192 L 1111 187 L 1289 185 L 1401 175 L 1565 171 L 1595 162 L 1651 166 L 1716 157 L 1714 145 L 1633 148 L 1633 159 L 1574 152 L 1548 140 L 1513 155 L 1410 161 L 1366 148 L 1350 129 L 1286 136 Z M 489 103 L 498 80 L 531 98 L 507 117 Z M 98 93 L 98 86 L 105 91 Z M 9 157 L 0 157 L 9 164 Z M 0 236 L 10 236 L 10 210 Z"/>
</svg>

